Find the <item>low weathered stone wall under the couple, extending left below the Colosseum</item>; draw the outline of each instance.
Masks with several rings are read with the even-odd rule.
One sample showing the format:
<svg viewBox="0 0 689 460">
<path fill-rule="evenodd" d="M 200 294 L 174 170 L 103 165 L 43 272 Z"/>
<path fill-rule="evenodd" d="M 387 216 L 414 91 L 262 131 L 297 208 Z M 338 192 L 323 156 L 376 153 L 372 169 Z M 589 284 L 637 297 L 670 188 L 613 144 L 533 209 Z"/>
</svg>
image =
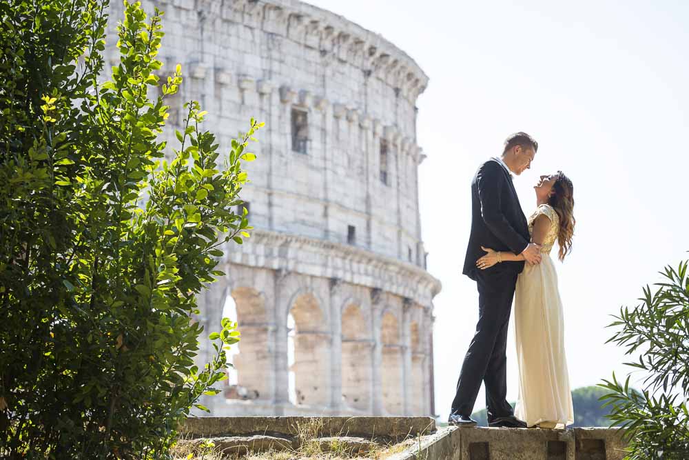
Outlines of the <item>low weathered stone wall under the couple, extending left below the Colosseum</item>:
<svg viewBox="0 0 689 460">
<path fill-rule="evenodd" d="M 311 439 L 298 439 L 306 426 Z M 389 460 L 622 460 L 627 446 L 623 435 L 617 428 L 436 430 L 429 417 L 203 417 L 189 418 L 181 427 L 181 443 L 211 439 L 227 448 L 225 453 L 247 445 L 251 448 L 245 450 L 253 452 L 294 452 L 309 441 L 337 439 L 340 446 L 356 447 L 361 441 L 406 439 L 407 448 L 385 457 Z"/>
</svg>

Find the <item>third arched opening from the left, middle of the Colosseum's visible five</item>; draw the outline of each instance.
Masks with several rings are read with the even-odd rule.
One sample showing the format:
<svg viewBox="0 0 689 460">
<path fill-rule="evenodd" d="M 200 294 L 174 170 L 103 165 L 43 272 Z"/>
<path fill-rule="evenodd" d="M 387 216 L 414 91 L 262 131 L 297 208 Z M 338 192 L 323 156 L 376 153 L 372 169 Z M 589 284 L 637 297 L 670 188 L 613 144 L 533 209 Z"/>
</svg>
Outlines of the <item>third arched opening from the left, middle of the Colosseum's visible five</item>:
<svg viewBox="0 0 689 460">
<path fill-rule="evenodd" d="M 342 310 L 342 403 L 371 410 L 371 336 L 361 308 Z"/>
</svg>

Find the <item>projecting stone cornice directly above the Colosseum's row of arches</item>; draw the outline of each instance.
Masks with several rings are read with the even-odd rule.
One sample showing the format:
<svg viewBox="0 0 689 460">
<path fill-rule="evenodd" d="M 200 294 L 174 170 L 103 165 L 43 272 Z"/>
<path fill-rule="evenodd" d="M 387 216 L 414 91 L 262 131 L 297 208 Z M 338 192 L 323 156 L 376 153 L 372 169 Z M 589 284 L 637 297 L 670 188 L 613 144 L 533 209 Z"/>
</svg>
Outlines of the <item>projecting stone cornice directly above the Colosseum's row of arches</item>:
<svg viewBox="0 0 689 460">
<path fill-rule="evenodd" d="M 334 241 L 253 230 L 242 246 L 232 241 L 227 245 L 225 263 L 336 278 L 406 297 L 426 307 L 441 289 L 440 281 L 423 268 Z"/>
</svg>

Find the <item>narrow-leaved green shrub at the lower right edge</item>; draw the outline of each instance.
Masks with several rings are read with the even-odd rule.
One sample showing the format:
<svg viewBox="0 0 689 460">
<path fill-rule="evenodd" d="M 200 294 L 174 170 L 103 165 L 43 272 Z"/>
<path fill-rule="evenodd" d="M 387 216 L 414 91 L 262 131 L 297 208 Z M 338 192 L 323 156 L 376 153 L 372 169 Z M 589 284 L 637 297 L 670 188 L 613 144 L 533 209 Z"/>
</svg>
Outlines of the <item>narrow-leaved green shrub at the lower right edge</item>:
<svg viewBox="0 0 689 460">
<path fill-rule="evenodd" d="M 668 266 L 655 293 L 646 286 L 641 304 L 621 308 L 610 324 L 618 330 L 609 342 L 638 357 L 626 364 L 644 379 L 641 392 L 630 388 L 630 376 L 601 384 L 609 418 L 627 430 L 629 460 L 689 458 L 688 263 Z"/>
</svg>

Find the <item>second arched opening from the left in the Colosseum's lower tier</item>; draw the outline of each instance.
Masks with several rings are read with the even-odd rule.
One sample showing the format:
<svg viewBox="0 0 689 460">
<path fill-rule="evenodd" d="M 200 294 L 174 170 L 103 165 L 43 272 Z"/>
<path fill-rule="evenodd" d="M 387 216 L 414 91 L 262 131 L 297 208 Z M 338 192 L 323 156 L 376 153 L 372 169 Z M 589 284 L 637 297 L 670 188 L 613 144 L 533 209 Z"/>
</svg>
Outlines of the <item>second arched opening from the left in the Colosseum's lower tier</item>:
<svg viewBox="0 0 689 460">
<path fill-rule="evenodd" d="M 294 319 L 294 402 L 307 406 L 329 403 L 330 335 L 313 294 L 301 294 L 289 310 Z M 289 331 L 288 331 L 289 347 Z M 289 358 L 289 357 L 288 357 Z"/>
</svg>

